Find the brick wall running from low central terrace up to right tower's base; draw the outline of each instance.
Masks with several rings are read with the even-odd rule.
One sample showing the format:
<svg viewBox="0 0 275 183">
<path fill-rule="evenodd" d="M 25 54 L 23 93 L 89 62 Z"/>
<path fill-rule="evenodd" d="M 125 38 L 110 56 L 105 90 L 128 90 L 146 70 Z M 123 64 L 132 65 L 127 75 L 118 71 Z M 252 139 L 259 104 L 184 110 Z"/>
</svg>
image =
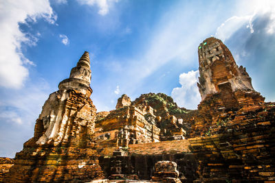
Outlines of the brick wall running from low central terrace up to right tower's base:
<svg viewBox="0 0 275 183">
<path fill-rule="evenodd" d="M 183 182 L 274 182 L 275 103 L 221 116 L 205 136 L 129 145 L 128 155 L 104 154 L 100 164 L 107 177 L 150 180 L 155 162 L 173 160 Z"/>
</svg>

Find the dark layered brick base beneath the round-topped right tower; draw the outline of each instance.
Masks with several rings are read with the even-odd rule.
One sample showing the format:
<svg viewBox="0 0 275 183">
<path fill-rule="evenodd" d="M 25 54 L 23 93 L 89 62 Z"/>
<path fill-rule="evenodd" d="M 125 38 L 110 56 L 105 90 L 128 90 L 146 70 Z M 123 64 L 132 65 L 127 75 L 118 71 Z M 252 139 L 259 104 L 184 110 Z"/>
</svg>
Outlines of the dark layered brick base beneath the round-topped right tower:
<svg viewBox="0 0 275 183">
<path fill-rule="evenodd" d="M 213 127 L 209 136 L 188 139 L 201 180 L 275 181 L 274 106 L 242 108 L 231 113 L 227 123 Z"/>
</svg>

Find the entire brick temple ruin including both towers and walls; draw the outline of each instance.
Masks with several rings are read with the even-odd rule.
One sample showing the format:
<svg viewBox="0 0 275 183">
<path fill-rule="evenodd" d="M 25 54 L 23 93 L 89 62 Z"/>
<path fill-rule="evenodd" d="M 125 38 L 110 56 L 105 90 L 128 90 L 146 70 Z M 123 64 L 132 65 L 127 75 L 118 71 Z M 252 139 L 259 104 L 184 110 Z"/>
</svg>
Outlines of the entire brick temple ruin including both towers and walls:
<svg viewBox="0 0 275 183">
<path fill-rule="evenodd" d="M 96 113 L 85 52 L 45 101 L 34 137 L 0 159 L 3 182 L 275 182 L 275 103 L 217 38 L 198 47 L 197 110 L 162 93 Z"/>
</svg>

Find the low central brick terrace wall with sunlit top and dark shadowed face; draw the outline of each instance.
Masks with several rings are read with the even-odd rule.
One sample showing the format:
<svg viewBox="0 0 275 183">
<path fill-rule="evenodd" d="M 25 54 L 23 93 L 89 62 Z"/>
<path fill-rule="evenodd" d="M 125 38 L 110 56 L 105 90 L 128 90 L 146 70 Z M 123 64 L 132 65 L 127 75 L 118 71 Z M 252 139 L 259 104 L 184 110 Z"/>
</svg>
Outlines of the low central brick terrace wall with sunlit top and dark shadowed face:
<svg viewBox="0 0 275 183">
<path fill-rule="evenodd" d="M 113 147 L 106 147 L 101 154 L 100 166 L 106 178 L 110 175 L 129 177 L 137 175 L 140 179 L 150 180 L 155 163 L 160 160 L 171 160 L 178 164 L 180 178 L 195 180 L 197 178 L 197 162 L 190 152 L 187 140 L 163 141 L 129 145 L 128 156 L 112 156 Z M 103 152 L 103 151 L 102 151 Z"/>
</svg>

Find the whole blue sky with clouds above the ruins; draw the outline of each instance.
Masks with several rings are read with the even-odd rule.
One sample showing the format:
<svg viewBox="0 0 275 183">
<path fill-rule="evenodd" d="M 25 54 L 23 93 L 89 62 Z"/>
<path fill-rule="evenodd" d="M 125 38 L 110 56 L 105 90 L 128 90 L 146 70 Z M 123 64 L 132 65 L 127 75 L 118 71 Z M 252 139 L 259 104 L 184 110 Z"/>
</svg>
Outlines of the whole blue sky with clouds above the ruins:
<svg viewBox="0 0 275 183">
<path fill-rule="evenodd" d="M 275 100 L 272 0 L 0 0 L 0 34 L 0 156 L 14 157 L 33 136 L 43 103 L 84 51 L 98 111 L 149 92 L 197 108 L 197 47 L 210 36 Z"/>
</svg>

